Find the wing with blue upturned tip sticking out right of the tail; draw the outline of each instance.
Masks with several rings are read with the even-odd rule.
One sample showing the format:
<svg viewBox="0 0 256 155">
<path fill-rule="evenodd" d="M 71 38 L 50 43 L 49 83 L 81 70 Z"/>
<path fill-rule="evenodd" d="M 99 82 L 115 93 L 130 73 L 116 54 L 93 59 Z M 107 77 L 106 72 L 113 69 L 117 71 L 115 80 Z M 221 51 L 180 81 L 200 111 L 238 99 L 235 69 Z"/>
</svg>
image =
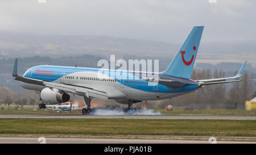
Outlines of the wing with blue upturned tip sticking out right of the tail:
<svg viewBox="0 0 256 155">
<path fill-rule="evenodd" d="M 201 86 L 216 85 L 216 84 L 219 84 L 219 83 L 239 82 L 239 81 L 241 81 L 239 78 L 243 74 L 243 69 L 245 69 L 246 62 L 247 62 L 247 60 L 243 63 L 241 69 L 238 71 L 237 75 L 234 76 L 234 77 L 199 79 L 199 80 L 196 80 L 196 82 L 199 82 Z M 235 80 L 230 80 L 230 79 L 235 79 Z"/>
</svg>

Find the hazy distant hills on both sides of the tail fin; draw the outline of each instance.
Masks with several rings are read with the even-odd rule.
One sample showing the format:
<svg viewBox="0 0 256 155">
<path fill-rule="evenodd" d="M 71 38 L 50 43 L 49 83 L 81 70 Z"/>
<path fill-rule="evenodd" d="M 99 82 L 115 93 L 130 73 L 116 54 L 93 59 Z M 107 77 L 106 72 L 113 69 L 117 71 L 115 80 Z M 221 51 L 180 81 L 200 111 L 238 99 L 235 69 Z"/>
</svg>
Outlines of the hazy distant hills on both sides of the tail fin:
<svg viewBox="0 0 256 155">
<path fill-rule="evenodd" d="M 185 38 L 185 36 L 184 36 Z M 256 68 L 256 44 L 207 43 L 201 41 L 196 62 L 218 64 L 248 60 Z M 126 39 L 112 36 L 79 35 L 36 35 L 0 31 L 0 58 L 49 56 L 98 55 L 109 57 L 125 55 L 137 57 L 165 57 L 169 61 L 175 56 L 182 43 L 172 44 L 161 41 Z"/>
</svg>

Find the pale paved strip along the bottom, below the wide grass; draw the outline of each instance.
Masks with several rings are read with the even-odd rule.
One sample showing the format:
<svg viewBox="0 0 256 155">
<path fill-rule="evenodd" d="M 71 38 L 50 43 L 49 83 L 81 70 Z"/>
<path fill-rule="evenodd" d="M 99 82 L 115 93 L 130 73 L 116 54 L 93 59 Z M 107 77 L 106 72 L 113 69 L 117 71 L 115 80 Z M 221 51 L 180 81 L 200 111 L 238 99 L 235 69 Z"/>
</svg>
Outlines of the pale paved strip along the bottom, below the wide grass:
<svg viewBox="0 0 256 155">
<path fill-rule="evenodd" d="M 40 144 L 38 138 L 0 137 L 0 144 Z M 46 144 L 210 144 L 200 140 L 64 139 L 46 138 Z M 256 144 L 248 141 L 216 141 L 217 144 Z"/>
</svg>

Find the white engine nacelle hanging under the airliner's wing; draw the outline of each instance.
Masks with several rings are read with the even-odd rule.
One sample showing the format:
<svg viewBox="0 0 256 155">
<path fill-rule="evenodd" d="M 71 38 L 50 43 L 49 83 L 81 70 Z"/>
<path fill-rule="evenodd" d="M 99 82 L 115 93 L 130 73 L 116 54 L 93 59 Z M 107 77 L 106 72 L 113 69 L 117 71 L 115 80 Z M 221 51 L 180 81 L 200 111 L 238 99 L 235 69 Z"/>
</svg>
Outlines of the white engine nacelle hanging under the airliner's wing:
<svg viewBox="0 0 256 155">
<path fill-rule="evenodd" d="M 40 97 L 44 103 L 51 104 L 68 102 L 70 99 L 69 94 L 61 93 L 58 89 L 49 89 L 48 87 L 41 91 Z"/>
</svg>

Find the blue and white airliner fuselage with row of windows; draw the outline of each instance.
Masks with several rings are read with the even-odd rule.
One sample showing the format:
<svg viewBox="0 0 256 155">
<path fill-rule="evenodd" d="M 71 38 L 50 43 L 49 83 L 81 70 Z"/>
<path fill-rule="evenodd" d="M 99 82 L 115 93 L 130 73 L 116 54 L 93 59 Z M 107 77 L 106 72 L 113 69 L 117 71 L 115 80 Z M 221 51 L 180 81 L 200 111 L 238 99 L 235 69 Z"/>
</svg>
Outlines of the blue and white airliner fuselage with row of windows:
<svg viewBox="0 0 256 155">
<path fill-rule="evenodd" d="M 190 85 L 170 88 L 159 83 L 151 82 L 153 83 L 151 84 L 143 79 L 142 77 L 146 77 L 143 74 L 147 73 L 138 74 L 141 77 L 135 76 L 137 72 L 129 72 L 127 70 L 40 65 L 28 69 L 23 77 L 63 83 L 65 85 L 93 87 L 94 89 L 105 91 L 109 99 L 159 100 L 189 93 L 199 88 L 199 83 L 191 79 L 180 78 L 180 81 L 189 82 Z M 160 73 L 152 75 L 160 79 L 176 79 Z M 25 82 L 22 82 L 21 85 L 30 90 L 41 91 L 44 89 L 44 86 Z"/>
</svg>

